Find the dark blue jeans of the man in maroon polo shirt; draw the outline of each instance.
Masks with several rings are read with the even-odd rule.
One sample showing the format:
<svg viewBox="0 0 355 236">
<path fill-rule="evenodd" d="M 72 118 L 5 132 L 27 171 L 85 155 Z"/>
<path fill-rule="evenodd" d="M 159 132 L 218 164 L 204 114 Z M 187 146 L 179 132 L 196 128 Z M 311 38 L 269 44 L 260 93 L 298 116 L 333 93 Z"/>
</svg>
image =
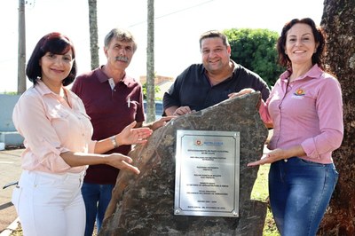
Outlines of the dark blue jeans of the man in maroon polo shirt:
<svg viewBox="0 0 355 236">
<path fill-rule="evenodd" d="M 85 236 L 92 235 L 95 220 L 99 232 L 113 189 L 114 185 L 83 183 L 82 194 L 86 209 Z"/>
</svg>

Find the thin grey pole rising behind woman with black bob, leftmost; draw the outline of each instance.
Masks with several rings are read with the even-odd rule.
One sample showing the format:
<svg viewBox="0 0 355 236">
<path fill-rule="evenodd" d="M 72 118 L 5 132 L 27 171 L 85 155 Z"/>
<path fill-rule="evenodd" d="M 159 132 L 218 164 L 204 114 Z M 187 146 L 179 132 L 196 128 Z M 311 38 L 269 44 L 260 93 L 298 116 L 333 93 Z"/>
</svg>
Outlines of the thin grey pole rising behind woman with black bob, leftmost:
<svg viewBox="0 0 355 236">
<path fill-rule="evenodd" d="M 26 90 L 26 26 L 25 26 L 25 0 L 19 0 L 19 51 L 18 51 L 18 77 L 17 93 Z"/>
</svg>

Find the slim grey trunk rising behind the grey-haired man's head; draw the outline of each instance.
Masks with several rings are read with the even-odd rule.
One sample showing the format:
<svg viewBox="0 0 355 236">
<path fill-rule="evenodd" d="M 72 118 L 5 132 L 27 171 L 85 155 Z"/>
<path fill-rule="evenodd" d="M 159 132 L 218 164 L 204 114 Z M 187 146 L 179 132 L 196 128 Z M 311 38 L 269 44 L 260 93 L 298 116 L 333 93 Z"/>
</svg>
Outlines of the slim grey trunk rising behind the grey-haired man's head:
<svg viewBox="0 0 355 236">
<path fill-rule="evenodd" d="M 99 67 L 98 8 L 97 8 L 97 0 L 88 0 L 88 3 L 89 3 L 89 25 L 90 25 L 91 70 L 93 70 Z"/>
</svg>

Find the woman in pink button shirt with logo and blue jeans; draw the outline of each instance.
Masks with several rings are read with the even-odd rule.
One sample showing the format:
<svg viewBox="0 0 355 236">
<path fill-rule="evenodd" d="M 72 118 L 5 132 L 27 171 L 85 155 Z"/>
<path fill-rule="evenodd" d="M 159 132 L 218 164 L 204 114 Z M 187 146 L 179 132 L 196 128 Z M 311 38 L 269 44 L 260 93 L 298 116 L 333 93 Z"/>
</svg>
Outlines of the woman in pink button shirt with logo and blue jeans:
<svg viewBox="0 0 355 236">
<path fill-rule="evenodd" d="M 325 42 L 313 20 L 289 21 L 277 43 L 288 69 L 261 101 L 262 119 L 273 125 L 271 151 L 248 166 L 272 163 L 270 203 L 281 235 L 316 235 L 338 178 L 332 152 L 343 140 L 343 101 L 323 65 Z"/>
</svg>

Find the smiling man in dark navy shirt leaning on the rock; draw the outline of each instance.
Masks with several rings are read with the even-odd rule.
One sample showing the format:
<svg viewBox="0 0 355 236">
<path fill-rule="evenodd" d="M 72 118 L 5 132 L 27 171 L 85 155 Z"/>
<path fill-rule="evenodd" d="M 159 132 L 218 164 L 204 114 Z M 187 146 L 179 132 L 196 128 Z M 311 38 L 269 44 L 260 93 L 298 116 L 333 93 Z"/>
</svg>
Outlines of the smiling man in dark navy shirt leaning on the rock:
<svg viewBox="0 0 355 236">
<path fill-rule="evenodd" d="M 231 46 L 224 34 L 216 30 L 202 34 L 200 49 L 202 64 L 187 67 L 164 93 L 165 114 L 200 111 L 245 88 L 259 90 L 264 100 L 269 97 L 264 80 L 231 59 Z"/>
</svg>

